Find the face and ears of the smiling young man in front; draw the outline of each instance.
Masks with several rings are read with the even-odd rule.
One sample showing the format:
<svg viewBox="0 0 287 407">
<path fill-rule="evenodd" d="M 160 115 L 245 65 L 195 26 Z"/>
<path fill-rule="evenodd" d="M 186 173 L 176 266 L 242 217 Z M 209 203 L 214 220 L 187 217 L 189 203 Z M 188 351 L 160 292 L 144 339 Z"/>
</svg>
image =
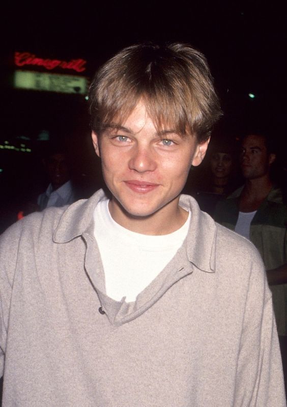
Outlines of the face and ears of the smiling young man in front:
<svg viewBox="0 0 287 407">
<path fill-rule="evenodd" d="M 133 218 L 162 210 L 174 215 L 190 166 L 200 164 L 208 145 L 169 127 L 158 133 L 141 102 L 125 123 L 92 137 L 113 196 L 111 215 L 124 211 Z"/>
</svg>

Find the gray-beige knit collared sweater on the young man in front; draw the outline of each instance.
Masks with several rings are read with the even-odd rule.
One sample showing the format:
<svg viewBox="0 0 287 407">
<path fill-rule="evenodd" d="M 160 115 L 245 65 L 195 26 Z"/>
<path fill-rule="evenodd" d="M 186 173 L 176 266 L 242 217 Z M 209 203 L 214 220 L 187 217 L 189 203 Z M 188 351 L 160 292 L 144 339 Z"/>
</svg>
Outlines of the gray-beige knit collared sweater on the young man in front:
<svg viewBox="0 0 287 407">
<path fill-rule="evenodd" d="M 183 246 L 136 302 L 116 302 L 93 233 L 102 196 L 27 216 L 0 238 L 4 407 L 285 406 L 252 244 L 182 196 Z"/>
</svg>

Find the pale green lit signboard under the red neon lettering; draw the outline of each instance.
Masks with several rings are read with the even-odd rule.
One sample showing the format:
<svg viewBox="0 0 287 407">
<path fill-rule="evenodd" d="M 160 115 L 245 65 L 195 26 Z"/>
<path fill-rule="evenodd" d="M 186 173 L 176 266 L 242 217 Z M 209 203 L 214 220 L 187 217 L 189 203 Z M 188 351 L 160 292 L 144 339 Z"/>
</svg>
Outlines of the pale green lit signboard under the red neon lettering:
<svg viewBox="0 0 287 407">
<path fill-rule="evenodd" d="M 88 79 L 84 76 L 19 70 L 14 72 L 14 88 L 86 95 Z"/>
</svg>

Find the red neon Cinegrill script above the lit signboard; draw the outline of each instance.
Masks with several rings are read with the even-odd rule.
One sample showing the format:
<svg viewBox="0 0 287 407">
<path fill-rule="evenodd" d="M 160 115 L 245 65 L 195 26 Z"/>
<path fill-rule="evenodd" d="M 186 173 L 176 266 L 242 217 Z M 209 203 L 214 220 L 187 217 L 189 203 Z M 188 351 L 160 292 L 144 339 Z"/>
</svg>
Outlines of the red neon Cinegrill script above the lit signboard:
<svg viewBox="0 0 287 407">
<path fill-rule="evenodd" d="M 87 61 L 82 59 L 71 60 L 69 62 L 61 60 L 49 60 L 43 58 L 37 58 L 34 54 L 30 52 L 15 52 L 14 54 L 15 65 L 24 66 L 24 65 L 37 65 L 43 66 L 46 69 L 54 69 L 57 67 L 63 69 L 73 69 L 76 72 L 85 71 L 85 63 Z"/>
</svg>

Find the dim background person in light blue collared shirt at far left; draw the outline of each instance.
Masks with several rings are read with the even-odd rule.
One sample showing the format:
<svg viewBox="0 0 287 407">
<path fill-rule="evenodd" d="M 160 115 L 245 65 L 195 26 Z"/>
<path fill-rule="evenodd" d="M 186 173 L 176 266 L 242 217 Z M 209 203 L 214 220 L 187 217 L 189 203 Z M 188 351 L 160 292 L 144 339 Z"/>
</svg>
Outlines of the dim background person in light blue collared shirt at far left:
<svg viewBox="0 0 287 407">
<path fill-rule="evenodd" d="M 60 148 L 53 148 L 43 158 L 43 165 L 49 179 L 46 191 L 38 196 L 40 210 L 50 206 L 61 207 L 75 201 L 67 154 Z"/>
</svg>

